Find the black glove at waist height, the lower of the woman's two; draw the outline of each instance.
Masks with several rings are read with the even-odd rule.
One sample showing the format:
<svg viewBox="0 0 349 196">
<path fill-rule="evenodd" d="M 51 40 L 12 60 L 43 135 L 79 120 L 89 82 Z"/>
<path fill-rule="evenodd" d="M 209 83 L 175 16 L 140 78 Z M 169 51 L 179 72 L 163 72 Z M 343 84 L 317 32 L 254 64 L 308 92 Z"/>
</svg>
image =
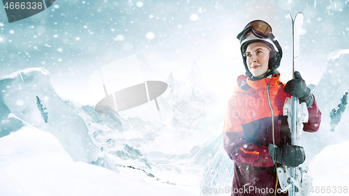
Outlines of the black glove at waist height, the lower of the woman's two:
<svg viewBox="0 0 349 196">
<path fill-rule="evenodd" d="M 277 147 L 269 144 L 268 150 L 274 164 L 280 163 L 290 167 L 298 167 L 305 160 L 305 153 L 302 146 L 285 144 Z"/>
</svg>

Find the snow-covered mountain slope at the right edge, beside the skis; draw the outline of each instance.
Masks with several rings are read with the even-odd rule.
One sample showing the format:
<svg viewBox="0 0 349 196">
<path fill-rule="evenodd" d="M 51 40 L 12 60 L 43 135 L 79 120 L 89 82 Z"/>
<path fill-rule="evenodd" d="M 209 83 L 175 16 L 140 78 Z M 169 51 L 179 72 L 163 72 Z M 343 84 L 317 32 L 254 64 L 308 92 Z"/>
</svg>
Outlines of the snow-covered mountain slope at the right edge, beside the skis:
<svg viewBox="0 0 349 196">
<path fill-rule="evenodd" d="M 300 143 L 306 151 L 308 164 L 313 156 L 325 147 L 349 140 L 348 109 L 341 115 L 341 121 L 334 132 L 331 131 L 329 113 L 341 103 L 345 92 L 349 92 L 349 50 L 337 50 L 327 56 L 327 70 L 313 90 L 318 107 L 322 112 L 320 129 L 317 133 L 303 133 Z"/>
</svg>

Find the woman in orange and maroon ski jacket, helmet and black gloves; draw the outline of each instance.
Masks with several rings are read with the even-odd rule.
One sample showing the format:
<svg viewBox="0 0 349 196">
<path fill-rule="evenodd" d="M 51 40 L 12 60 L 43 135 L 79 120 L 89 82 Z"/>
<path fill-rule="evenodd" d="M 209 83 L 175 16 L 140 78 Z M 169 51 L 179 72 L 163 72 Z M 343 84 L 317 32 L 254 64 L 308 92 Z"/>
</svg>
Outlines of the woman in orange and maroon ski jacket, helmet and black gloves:
<svg viewBox="0 0 349 196">
<path fill-rule="evenodd" d="M 305 160 L 302 146 L 291 145 L 285 98 L 295 96 L 308 107 L 304 131 L 315 132 L 321 112 L 298 72 L 295 79 L 280 82 L 282 50 L 267 22 L 255 20 L 237 35 L 246 75 L 228 100 L 223 126 L 223 144 L 235 169 L 232 195 L 288 195 L 280 193 L 276 167 L 297 167 Z M 278 190 L 279 189 L 279 190 Z"/>
</svg>

